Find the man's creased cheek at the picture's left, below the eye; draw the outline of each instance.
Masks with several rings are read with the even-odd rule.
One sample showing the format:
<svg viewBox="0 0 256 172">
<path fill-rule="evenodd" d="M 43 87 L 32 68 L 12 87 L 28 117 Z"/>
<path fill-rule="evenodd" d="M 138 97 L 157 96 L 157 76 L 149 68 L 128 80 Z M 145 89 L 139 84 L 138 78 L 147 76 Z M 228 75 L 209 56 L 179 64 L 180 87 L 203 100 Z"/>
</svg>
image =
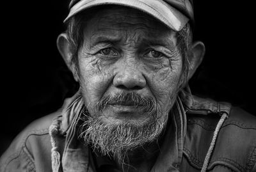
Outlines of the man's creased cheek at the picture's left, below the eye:
<svg viewBox="0 0 256 172">
<path fill-rule="evenodd" d="M 96 104 L 113 78 L 111 67 L 99 58 L 91 56 L 79 59 L 78 70 L 80 87 L 86 98 L 86 104 Z"/>
</svg>

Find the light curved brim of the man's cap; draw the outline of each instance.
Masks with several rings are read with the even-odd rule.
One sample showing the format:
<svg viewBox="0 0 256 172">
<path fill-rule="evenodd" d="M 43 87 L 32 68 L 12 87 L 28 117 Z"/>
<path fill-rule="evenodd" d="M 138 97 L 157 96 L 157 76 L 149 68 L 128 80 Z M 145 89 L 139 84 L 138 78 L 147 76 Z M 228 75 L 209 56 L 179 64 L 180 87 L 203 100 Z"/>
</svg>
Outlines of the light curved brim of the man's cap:
<svg viewBox="0 0 256 172">
<path fill-rule="evenodd" d="M 68 19 L 87 8 L 106 4 L 136 8 L 152 15 L 174 31 L 180 31 L 189 21 L 188 17 L 162 0 L 81 0 L 70 9 L 70 13 L 64 22 L 67 22 Z"/>
</svg>

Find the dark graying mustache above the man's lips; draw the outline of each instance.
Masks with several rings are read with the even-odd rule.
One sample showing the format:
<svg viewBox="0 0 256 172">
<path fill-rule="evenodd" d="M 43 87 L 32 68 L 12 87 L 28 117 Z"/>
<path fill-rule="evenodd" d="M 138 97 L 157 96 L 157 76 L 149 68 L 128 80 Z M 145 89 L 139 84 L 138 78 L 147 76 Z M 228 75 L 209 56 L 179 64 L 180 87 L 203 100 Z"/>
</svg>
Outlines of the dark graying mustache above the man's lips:
<svg viewBox="0 0 256 172">
<path fill-rule="evenodd" d="M 99 111 L 103 111 L 108 105 L 137 106 L 143 108 L 148 113 L 154 110 L 155 102 L 154 98 L 149 96 L 143 96 L 134 92 L 123 92 L 100 98 L 97 108 Z"/>
</svg>

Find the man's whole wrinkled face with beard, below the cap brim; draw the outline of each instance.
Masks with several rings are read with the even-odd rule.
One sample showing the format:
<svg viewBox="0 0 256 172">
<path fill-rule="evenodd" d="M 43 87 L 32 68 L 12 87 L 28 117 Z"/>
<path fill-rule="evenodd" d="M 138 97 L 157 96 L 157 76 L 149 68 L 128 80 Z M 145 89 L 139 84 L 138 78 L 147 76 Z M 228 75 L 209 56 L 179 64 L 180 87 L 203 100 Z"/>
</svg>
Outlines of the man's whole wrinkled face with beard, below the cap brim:
<svg viewBox="0 0 256 172">
<path fill-rule="evenodd" d="M 156 139 L 182 74 L 175 32 L 138 10 L 119 7 L 94 15 L 83 33 L 77 73 L 93 118 L 84 135 L 106 152 Z"/>
</svg>

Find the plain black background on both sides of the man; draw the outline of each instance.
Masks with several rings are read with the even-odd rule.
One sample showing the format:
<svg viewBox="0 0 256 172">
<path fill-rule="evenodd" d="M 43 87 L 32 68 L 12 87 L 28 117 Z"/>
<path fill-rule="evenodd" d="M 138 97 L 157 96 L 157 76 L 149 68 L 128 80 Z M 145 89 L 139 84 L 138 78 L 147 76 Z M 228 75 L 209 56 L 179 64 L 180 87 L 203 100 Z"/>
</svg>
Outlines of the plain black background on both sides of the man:
<svg viewBox="0 0 256 172">
<path fill-rule="evenodd" d="M 194 38 L 205 43 L 206 54 L 190 82 L 193 93 L 256 114 L 253 9 L 234 0 L 194 4 Z M 56 111 L 76 91 L 56 48 L 57 36 L 65 31 L 67 6 L 63 0 L 2 4 L 0 155 L 20 130 Z"/>
</svg>

